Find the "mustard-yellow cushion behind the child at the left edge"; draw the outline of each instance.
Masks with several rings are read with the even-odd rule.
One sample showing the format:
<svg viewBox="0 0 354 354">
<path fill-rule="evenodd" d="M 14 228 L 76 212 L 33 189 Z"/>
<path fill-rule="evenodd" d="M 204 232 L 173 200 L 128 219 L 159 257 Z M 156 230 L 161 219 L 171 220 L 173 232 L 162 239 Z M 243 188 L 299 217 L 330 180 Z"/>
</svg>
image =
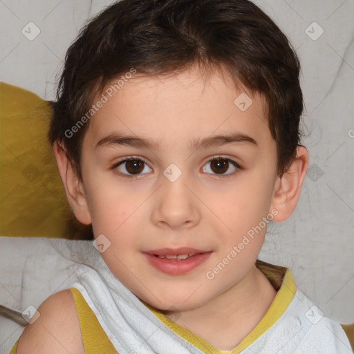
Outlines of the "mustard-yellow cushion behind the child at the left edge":
<svg viewBox="0 0 354 354">
<path fill-rule="evenodd" d="M 1 236 L 80 238 L 47 140 L 50 116 L 50 102 L 0 82 Z"/>
</svg>

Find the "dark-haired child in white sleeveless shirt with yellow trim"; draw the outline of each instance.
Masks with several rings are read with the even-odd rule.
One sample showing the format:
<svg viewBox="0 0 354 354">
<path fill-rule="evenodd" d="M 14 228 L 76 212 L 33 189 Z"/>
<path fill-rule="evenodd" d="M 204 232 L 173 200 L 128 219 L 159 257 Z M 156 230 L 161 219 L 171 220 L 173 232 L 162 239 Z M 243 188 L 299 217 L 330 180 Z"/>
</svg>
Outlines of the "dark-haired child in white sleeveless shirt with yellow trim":
<svg viewBox="0 0 354 354">
<path fill-rule="evenodd" d="M 12 353 L 351 353 L 290 270 L 257 259 L 306 175 L 302 110 L 297 55 L 248 0 L 97 15 L 68 49 L 49 139 L 100 258 Z"/>
</svg>

